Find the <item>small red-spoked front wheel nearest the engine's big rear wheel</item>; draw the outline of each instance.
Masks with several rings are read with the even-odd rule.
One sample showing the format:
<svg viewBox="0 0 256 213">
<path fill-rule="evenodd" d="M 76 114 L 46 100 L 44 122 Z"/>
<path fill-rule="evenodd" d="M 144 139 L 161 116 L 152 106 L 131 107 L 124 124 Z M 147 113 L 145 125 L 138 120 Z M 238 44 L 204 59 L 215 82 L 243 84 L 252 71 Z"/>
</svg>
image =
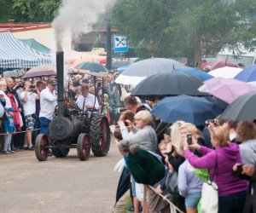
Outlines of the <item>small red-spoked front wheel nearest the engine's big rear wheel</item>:
<svg viewBox="0 0 256 213">
<path fill-rule="evenodd" d="M 87 160 L 90 156 L 89 135 L 81 133 L 78 138 L 78 156 L 80 160 Z"/>
</svg>

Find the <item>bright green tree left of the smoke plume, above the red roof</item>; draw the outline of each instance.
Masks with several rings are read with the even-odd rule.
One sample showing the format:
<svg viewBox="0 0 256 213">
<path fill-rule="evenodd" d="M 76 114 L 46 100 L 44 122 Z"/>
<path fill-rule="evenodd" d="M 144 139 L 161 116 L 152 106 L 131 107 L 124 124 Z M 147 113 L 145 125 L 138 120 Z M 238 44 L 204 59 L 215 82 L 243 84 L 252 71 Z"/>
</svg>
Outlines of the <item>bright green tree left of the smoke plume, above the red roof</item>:
<svg viewBox="0 0 256 213">
<path fill-rule="evenodd" d="M 20 9 L 26 14 L 28 20 L 33 22 L 49 22 L 55 17 L 55 11 L 59 8 L 61 0 L 13 0 L 14 9 Z"/>
</svg>

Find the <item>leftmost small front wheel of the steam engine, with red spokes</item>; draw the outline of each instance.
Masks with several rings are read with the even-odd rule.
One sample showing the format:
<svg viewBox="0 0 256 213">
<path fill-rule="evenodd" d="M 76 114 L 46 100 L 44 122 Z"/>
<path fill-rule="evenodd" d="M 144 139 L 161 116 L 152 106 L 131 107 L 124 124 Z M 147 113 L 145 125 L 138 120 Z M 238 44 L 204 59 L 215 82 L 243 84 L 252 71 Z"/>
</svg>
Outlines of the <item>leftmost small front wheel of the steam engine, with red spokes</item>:
<svg viewBox="0 0 256 213">
<path fill-rule="evenodd" d="M 47 135 L 39 134 L 36 139 L 35 153 L 39 161 L 45 161 L 48 158 L 49 138 Z"/>
</svg>

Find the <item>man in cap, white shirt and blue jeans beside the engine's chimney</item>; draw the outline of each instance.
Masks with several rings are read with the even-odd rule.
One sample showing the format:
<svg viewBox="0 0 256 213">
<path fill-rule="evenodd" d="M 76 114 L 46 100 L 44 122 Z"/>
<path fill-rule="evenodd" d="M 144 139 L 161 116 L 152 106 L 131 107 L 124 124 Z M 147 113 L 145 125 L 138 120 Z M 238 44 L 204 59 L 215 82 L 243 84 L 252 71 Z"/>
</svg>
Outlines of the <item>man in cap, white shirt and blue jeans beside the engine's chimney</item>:
<svg viewBox="0 0 256 213">
<path fill-rule="evenodd" d="M 57 105 L 57 96 L 54 95 L 57 82 L 55 80 L 49 80 L 47 87 L 42 90 L 40 94 L 40 113 L 39 121 L 41 125 L 41 133 L 49 134 L 49 122 L 53 119 L 55 107 Z"/>
</svg>

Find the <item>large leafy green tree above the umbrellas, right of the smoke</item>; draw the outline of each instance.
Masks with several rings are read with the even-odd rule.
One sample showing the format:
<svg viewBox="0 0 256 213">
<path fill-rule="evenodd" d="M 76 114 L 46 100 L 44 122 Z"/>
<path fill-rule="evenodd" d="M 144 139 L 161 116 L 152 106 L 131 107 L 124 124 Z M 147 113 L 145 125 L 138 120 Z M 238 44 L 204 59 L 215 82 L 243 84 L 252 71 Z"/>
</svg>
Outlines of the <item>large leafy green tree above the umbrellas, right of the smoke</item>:
<svg viewBox="0 0 256 213">
<path fill-rule="evenodd" d="M 131 45 L 155 56 L 184 56 L 193 49 L 201 60 L 201 44 L 218 52 L 224 44 L 253 47 L 255 0 L 121 0 L 113 22 Z"/>
</svg>

